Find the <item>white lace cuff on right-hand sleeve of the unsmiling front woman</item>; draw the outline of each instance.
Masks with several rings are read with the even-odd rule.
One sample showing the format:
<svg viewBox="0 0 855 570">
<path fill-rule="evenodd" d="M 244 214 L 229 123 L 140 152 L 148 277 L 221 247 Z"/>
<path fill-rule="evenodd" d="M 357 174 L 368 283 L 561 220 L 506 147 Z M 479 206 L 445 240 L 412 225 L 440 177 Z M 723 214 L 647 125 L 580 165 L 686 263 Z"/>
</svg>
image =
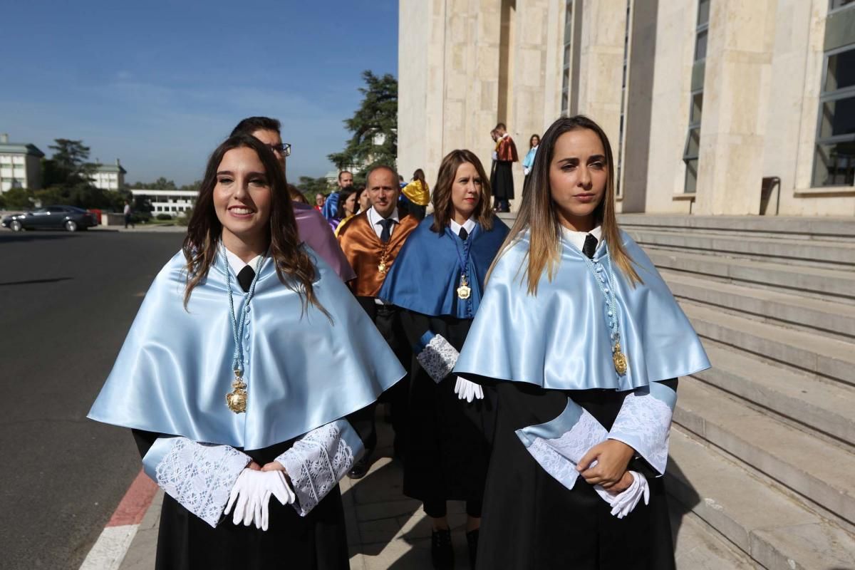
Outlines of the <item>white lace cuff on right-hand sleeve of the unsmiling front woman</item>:
<svg viewBox="0 0 855 570">
<path fill-rule="evenodd" d="M 662 475 L 668 465 L 671 415 L 675 403 L 675 391 L 659 382 L 629 394 L 611 426 L 609 439 L 632 447 Z"/>
</svg>

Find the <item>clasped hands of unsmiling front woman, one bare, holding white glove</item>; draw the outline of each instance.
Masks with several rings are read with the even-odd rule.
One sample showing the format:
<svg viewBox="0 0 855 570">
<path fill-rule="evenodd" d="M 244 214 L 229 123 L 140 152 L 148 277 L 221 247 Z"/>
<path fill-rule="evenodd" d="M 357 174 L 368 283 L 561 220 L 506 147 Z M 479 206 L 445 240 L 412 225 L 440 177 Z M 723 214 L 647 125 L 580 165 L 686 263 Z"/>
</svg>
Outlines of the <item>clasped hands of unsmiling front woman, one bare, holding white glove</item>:
<svg viewBox="0 0 855 570">
<path fill-rule="evenodd" d="M 611 514 L 622 519 L 644 498 L 650 502 L 650 485 L 642 473 L 628 471 L 635 450 L 616 439 L 606 439 L 582 455 L 576 470 L 590 485 L 599 485 L 610 497 Z"/>
</svg>

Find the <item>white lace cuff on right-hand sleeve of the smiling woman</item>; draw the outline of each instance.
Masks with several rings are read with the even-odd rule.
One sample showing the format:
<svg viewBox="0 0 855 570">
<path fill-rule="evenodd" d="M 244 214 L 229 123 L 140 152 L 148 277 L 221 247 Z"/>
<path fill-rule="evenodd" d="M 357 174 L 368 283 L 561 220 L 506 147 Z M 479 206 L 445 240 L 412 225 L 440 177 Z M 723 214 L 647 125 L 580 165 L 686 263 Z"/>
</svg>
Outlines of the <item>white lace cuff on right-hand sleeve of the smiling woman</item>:
<svg viewBox="0 0 855 570">
<path fill-rule="evenodd" d="M 362 453 L 363 442 L 356 430 L 347 420 L 336 420 L 306 433 L 277 457 L 291 478 L 298 514 L 309 514 Z"/>
</svg>

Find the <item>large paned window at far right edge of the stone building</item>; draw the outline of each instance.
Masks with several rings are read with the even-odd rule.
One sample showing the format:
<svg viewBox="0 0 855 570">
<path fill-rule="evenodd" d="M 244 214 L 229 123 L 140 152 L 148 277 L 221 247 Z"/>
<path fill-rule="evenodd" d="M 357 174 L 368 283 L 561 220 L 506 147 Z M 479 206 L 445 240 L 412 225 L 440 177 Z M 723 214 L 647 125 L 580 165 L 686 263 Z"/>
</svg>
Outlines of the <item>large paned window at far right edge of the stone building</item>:
<svg viewBox="0 0 855 570">
<path fill-rule="evenodd" d="M 827 52 L 824 72 L 811 185 L 855 185 L 855 44 Z"/>
</svg>

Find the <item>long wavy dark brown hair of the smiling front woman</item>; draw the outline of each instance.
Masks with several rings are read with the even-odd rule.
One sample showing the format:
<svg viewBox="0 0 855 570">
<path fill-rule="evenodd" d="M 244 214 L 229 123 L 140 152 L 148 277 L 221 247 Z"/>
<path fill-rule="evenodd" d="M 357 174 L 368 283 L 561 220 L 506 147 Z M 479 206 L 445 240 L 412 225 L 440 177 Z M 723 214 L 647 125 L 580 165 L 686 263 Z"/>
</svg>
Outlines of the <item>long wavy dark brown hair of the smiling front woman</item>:
<svg viewBox="0 0 855 570">
<path fill-rule="evenodd" d="M 184 308 L 190 302 L 193 289 L 208 275 L 211 265 L 218 255 L 218 247 L 222 237 L 222 224 L 216 217 L 214 209 L 214 188 L 216 173 L 223 156 L 229 150 L 250 148 L 256 151 L 259 160 L 264 165 L 270 185 L 270 222 L 268 238 L 270 241 L 270 256 L 273 257 L 276 275 L 279 280 L 297 291 L 303 299 L 303 309 L 312 303 L 324 314 L 326 309 L 315 297 L 312 282 L 316 277 L 315 265 L 309 254 L 300 247 L 297 232 L 297 221 L 294 220 L 294 210 L 287 189 L 285 173 L 276 160 L 273 151 L 255 137 L 239 134 L 226 139 L 218 146 L 208 159 L 205 176 L 199 188 L 199 197 L 184 238 L 184 256 L 187 260 L 187 283 L 184 291 Z M 329 314 L 327 314 L 327 317 Z"/>
</svg>

